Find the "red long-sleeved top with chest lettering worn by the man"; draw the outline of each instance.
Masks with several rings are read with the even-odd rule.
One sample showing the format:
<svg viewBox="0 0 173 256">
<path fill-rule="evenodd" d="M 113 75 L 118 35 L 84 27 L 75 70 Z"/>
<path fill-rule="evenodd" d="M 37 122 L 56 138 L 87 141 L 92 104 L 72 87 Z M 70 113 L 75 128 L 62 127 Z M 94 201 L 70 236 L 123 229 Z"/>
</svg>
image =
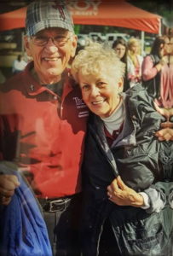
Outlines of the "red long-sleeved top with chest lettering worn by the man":
<svg viewBox="0 0 173 256">
<path fill-rule="evenodd" d="M 0 92 L 1 158 L 17 162 L 39 196 L 73 195 L 81 189 L 88 110 L 67 76 L 60 101 L 32 78 L 32 65 Z"/>
</svg>

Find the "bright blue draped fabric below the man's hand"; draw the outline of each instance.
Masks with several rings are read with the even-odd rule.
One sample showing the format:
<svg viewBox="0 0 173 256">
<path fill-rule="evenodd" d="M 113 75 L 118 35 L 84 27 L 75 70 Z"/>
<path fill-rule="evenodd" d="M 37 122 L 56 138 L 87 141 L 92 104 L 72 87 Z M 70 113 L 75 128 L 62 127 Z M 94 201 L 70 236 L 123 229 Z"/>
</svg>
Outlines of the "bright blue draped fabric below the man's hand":
<svg viewBox="0 0 173 256">
<path fill-rule="evenodd" d="M 15 189 L 9 206 L 0 207 L 0 256 L 52 256 L 37 200 L 20 173 L 13 174 L 20 186 Z"/>
</svg>

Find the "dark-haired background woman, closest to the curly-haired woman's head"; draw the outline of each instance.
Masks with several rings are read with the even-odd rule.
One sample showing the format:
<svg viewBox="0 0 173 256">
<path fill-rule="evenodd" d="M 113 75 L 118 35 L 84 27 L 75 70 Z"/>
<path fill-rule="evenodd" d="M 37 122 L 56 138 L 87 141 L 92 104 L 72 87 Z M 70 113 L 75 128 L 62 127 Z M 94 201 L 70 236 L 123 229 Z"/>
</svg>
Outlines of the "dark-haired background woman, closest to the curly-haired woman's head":
<svg viewBox="0 0 173 256">
<path fill-rule="evenodd" d="M 123 38 L 116 39 L 112 44 L 112 49 L 115 50 L 119 59 L 125 64 L 125 73 L 124 73 L 124 91 L 130 88 L 130 83 L 127 78 L 127 43 Z"/>
</svg>

